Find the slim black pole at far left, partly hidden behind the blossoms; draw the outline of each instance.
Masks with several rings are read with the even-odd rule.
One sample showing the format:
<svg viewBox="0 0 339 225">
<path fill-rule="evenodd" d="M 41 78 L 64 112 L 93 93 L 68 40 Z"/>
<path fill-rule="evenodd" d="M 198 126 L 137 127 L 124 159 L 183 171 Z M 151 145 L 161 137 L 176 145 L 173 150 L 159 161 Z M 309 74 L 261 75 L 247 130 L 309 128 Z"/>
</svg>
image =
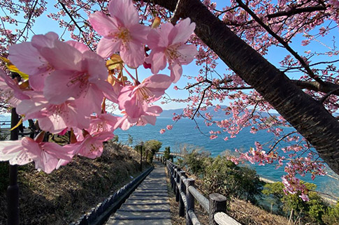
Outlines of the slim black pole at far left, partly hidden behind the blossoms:
<svg viewBox="0 0 339 225">
<path fill-rule="evenodd" d="M 19 115 L 12 108 L 10 117 L 10 127 L 14 127 L 19 122 Z M 19 129 L 10 131 L 10 140 L 19 139 Z M 7 188 L 7 224 L 19 224 L 19 187 L 17 186 L 17 165 L 9 166 L 9 186 Z"/>
</svg>

